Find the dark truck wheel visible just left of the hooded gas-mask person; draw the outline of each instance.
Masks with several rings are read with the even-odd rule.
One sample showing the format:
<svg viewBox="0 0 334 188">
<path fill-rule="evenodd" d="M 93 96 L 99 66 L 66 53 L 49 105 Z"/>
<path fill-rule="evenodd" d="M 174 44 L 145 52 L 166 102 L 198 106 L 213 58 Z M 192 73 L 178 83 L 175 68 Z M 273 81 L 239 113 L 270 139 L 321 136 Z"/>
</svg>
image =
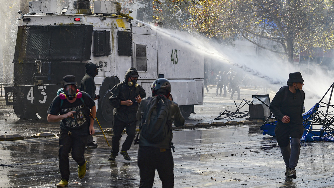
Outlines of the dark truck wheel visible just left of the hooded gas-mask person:
<svg viewBox="0 0 334 188">
<path fill-rule="evenodd" d="M 110 90 L 111 89 L 108 89 L 102 96 L 101 104 L 99 104 L 98 108 L 98 115 L 100 116 L 98 118 L 100 118 L 103 122 L 108 122 L 112 125 L 114 120 L 114 107 L 109 104 Z"/>
</svg>

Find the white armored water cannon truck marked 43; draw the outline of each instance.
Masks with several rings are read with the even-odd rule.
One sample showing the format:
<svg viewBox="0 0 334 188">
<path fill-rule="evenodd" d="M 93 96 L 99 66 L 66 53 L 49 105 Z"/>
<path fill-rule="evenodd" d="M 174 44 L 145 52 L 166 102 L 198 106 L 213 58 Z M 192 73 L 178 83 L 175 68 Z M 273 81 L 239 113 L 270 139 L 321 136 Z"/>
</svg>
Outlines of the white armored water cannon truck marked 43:
<svg viewBox="0 0 334 188">
<path fill-rule="evenodd" d="M 99 121 L 113 121 L 109 93 L 130 67 L 138 70 L 148 96 L 151 83 L 164 74 L 185 117 L 203 104 L 203 56 L 171 35 L 138 24 L 121 13 L 121 3 L 96 0 L 93 14 L 88 0 L 78 0 L 73 9 L 57 14 L 56 0 L 38 0 L 29 2 L 29 10 L 19 12 L 13 86 L 5 87 L 6 105 L 13 105 L 19 118 L 46 119 L 62 77 L 75 75 L 80 82 L 89 62 L 101 66 L 95 77 Z M 168 32 L 194 39 L 184 31 Z"/>
</svg>

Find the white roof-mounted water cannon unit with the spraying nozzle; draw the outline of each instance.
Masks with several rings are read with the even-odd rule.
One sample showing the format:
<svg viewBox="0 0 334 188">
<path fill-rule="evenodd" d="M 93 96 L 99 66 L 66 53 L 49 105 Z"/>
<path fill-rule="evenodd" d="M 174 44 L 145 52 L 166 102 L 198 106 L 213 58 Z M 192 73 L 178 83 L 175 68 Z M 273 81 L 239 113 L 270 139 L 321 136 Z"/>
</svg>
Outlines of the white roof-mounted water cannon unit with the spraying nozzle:
<svg viewBox="0 0 334 188">
<path fill-rule="evenodd" d="M 105 16 L 112 16 L 113 14 L 121 15 L 125 18 L 133 20 L 133 17 L 129 16 L 132 10 L 129 10 L 128 14 L 121 13 L 122 3 L 114 1 L 94 1 L 94 14 L 103 14 Z"/>
</svg>

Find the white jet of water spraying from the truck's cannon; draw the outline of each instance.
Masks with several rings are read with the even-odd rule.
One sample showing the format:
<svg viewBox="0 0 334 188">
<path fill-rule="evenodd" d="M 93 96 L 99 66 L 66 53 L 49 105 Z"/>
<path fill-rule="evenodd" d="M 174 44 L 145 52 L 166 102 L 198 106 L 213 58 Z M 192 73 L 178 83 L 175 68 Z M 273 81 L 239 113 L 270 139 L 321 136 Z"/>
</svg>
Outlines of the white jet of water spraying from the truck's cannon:
<svg viewBox="0 0 334 188">
<path fill-rule="evenodd" d="M 137 20 L 139 21 L 139 20 Z M 141 21 L 139 21 L 141 22 Z M 145 25 L 148 25 L 142 22 Z M 148 25 L 150 26 L 150 25 Z M 189 40 L 175 34 L 171 34 L 168 30 L 155 26 L 150 26 L 157 32 L 170 35 L 171 38 L 177 40 L 180 45 L 189 45 L 198 53 L 207 55 L 225 65 L 233 67 L 240 75 L 250 75 L 256 77 L 259 82 L 270 84 L 272 90 L 276 93 L 282 86 L 287 85 L 289 73 L 301 72 L 305 80 L 303 90 L 305 91 L 305 110 L 308 111 L 325 95 L 328 88 L 333 83 L 332 72 L 322 70 L 317 65 L 296 65 L 289 63 L 280 58 L 276 53 L 266 51 L 264 55 L 257 56 L 253 52 L 240 51 L 235 47 L 226 44 L 209 43 L 205 38 L 196 35 L 196 40 Z M 264 52 L 264 51 L 262 51 Z M 227 70 L 226 70 L 227 71 Z M 260 83 L 261 84 L 261 83 Z M 331 90 L 328 92 L 323 102 L 328 102 Z"/>
</svg>

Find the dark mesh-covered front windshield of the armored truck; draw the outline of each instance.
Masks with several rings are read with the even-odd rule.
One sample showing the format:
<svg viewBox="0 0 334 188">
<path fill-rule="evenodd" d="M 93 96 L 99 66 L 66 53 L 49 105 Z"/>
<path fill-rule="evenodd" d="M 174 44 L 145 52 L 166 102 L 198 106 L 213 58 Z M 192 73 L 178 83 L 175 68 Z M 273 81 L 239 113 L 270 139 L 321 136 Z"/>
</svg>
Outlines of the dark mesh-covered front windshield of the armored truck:
<svg viewBox="0 0 334 188">
<path fill-rule="evenodd" d="M 17 30 L 15 60 L 90 60 L 93 26 L 32 25 Z"/>
</svg>

